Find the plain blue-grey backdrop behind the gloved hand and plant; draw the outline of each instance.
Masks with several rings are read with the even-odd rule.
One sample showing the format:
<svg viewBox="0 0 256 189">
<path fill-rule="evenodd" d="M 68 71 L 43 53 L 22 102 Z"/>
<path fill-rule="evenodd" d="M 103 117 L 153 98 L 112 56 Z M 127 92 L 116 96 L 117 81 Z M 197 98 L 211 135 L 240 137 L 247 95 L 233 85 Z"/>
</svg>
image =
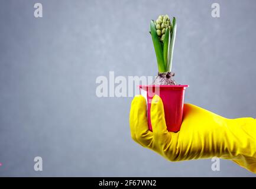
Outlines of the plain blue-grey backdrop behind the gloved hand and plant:
<svg viewBox="0 0 256 189">
<path fill-rule="evenodd" d="M 43 18 L 34 18 L 34 3 Z M 211 5 L 221 5 L 221 18 Z M 154 76 L 150 19 L 177 17 L 173 71 L 186 102 L 256 117 L 256 1 L 0 1 L 1 176 L 255 176 L 231 161 L 168 162 L 130 138 L 131 97 L 96 77 Z M 34 157 L 43 171 L 34 171 Z"/>
</svg>

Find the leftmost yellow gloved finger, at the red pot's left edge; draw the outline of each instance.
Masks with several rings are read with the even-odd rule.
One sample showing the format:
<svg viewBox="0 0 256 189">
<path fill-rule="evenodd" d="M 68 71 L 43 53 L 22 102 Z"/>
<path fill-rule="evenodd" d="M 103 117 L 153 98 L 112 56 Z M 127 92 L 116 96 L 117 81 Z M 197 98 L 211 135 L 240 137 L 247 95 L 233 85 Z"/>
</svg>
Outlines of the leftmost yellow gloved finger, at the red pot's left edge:
<svg viewBox="0 0 256 189">
<path fill-rule="evenodd" d="M 148 131 L 147 104 L 143 96 L 138 95 L 132 101 L 130 123 L 134 127 L 135 138 L 142 146 L 148 146 L 153 139 L 153 134 Z"/>
</svg>

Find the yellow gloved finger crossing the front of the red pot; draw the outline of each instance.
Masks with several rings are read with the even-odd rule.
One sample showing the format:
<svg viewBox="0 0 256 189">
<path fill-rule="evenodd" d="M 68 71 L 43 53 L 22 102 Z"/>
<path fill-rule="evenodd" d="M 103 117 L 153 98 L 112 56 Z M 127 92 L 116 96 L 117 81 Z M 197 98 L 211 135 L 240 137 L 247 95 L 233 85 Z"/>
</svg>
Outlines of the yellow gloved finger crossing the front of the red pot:
<svg viewBox="0 0 256 189">
<path fill-rule="evenodd" d="M 164 118 L 164 105 L 157 94 L 155 94 L 152 99 L 150 115 L 154 139 L 159 142 L 165 141 L 168 138 L 166 137 L 168 131 Z"/>
</svg>

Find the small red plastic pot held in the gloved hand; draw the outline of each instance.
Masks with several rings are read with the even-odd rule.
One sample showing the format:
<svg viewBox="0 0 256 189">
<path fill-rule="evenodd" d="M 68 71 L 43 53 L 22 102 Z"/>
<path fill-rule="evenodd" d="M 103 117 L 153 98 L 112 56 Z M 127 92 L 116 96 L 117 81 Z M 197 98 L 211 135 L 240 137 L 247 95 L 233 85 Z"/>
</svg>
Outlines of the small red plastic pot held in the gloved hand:
<svg viewBox="0 0 256 189">
<path fill-rule="evenodd" d="M 182 125 L 184 93 L 188 85 L 140 85 L 140 94 L 147 100 L 148 129 L 152 131 L 150 120 L 151 101 L 155 94 L 161 97 L 167 130 L 180 131 Z"/>
</svg>

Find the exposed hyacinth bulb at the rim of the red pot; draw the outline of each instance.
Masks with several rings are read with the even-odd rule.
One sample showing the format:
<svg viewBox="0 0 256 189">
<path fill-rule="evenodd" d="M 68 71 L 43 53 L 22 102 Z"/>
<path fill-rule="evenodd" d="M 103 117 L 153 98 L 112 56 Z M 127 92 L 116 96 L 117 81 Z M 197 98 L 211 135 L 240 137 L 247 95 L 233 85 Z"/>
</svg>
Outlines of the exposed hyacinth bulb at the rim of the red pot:
<svg viewBox="0 0 256 189">
<path fill-rule="evenodd" d="M 155 80 L 153 84 L 157 85 L 177 85 L 177 83 L 173 79 L 174 73 L 171 71 L 159 73 L 157 77 L 155 77 Z"/>
</svg>

